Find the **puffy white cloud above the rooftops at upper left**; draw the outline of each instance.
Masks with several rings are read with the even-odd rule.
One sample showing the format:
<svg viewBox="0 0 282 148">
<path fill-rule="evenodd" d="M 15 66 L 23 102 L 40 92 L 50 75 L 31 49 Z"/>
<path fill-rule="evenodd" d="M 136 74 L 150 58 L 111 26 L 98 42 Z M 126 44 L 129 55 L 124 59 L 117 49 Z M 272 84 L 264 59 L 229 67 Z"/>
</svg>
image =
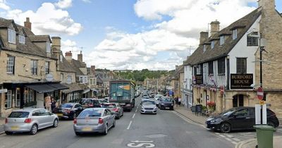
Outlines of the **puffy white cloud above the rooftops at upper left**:
<svg viewBox="0 0 282 148">
<path fill-rule="evenodd" d="M 13 19 L 20 25 L 23 25 L 25 18 L 29 17 L 32 32 L 36 35 L 78 35 L 82 30 L 82 25 L 75 23 L 68 11 L 58 9 L 51 3 L 42 4 L 35 12 L 14 9 L 1 13 L 1 16 Z"/>
</svg>

